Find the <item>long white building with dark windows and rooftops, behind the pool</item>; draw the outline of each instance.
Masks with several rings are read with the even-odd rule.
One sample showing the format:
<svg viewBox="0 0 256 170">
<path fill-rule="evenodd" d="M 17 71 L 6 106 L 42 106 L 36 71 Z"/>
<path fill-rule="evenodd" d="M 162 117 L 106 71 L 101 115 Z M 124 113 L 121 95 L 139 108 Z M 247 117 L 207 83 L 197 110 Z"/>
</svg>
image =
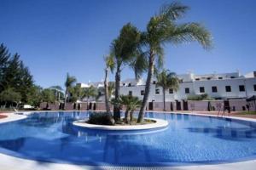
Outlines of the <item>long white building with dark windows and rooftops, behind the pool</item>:
<svg viewBox="0 0 256 170">
<path fill-rule="evenodd" d="M 256 71 L 241 75 L 238 71 L 224 74 L 195 75 L 193 73 L 177 75 L 182 82 L 177 92 L 166 90 L 166 102 L 187 99 L 189 95 L 208 94 L 214 99 L 247 99 L 256 95 Z M 156 79 L 152 81 L 148 102 L 162 102 L 162 88 L 155 85 Z M 78 83 L 82 88 L 90 85 L 100 88 L 103 82 Z M 143 99 L 145 82 L 135 79 L 127 79 L 120 83 L 120 94 L 132 94 Z M 102 97 L 102 100 L 104 98 Z"/>
</svg>

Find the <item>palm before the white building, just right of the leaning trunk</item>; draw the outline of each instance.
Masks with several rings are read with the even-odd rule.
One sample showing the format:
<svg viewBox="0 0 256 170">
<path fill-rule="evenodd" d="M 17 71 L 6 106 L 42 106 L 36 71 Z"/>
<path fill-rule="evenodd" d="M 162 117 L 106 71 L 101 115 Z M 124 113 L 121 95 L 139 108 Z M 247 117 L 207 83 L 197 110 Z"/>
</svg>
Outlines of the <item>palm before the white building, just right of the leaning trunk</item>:
<svg viewBox="0 0 256 170">
<path fill-rule="evenodd" d="M 179 79 L 177 78 L 175 72 L 170 72 L 165 69 L 161 71 L 156 78 L 156 85 L 160 86 L 163 90 L 164 111 L 166 111 L 166 89 L 172 88 L 173 91 L 177 92 L 179 87 Z"/>
</svg>

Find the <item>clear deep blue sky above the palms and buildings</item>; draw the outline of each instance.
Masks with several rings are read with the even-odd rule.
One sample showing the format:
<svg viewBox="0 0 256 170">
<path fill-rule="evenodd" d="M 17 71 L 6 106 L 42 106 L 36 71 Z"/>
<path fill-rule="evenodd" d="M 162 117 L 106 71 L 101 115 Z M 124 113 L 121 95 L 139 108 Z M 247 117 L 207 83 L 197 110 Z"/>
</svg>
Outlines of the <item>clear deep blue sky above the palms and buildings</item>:
<svg viewBox="0 0 256 170">
<path fill-rule="evenodd" d="M 213 48 L 196 42 L 165 47 L 165 68 L 177 74 L 256 71 L 255 0 L 183 0 L 189 11 L 179 23 L 196 21 L 212 33 Z M 20 54 L 34 81 L 64 85 L 104 77 L 103 56 L 127 22 L 141 31 L 167 0 L 0 0 L 0 43 Z M 125 68 L 122 79 L 134 77 Z M 113 80 L 113 75 L 110 79 Z"/>
</svg>

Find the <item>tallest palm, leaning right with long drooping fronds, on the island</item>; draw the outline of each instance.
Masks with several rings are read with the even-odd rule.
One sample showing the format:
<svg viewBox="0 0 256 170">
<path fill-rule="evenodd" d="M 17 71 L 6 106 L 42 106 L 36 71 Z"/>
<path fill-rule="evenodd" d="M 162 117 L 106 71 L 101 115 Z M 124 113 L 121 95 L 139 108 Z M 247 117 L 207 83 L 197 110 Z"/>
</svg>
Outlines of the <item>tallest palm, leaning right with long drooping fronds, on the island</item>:
<svg viewBox="0 0 256 170">
<path fill-rule="evenodd" d="M 152 17 L 147 26 L 147 31 L 142 33 L 142 43 L 148 60 L 148 76 L 141 106 L 138 122 L 143 122 L 144 112 L 148 102 L 150 85 L 154 74 L 155 66 L 163 64 L 164 45 L 181 42 L 199 42 L 203 48 L 210 48 L 212 38 L 209 31 L 204 26 L 195 22 L 178 24 L 177 20 L 183 17 L 189 8 L 181 3 L 170 3 L 160 8 L 160 13 Z"/>
</svg>

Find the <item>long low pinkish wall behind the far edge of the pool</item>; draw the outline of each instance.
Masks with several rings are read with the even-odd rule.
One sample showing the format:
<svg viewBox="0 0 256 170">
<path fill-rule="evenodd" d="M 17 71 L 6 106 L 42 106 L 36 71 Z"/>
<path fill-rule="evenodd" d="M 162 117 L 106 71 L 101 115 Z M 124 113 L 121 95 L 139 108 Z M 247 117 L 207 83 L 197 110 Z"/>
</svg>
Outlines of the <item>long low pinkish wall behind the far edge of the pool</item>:
<svg viewBox="0 0 256 170">
<path fill-rule="evenodd" d="M 254 102 L 247 102 L 245 99 L 230 99 L 230 110 L 231 111 L 245 111 L 247 110 L 247 105 L 250 106 L 250 110 L 255 110 Z M 94 103 L 91 104 L 91 111 L 94 110 Z M 48 104 L 48 108 L 50 110 L 59 110 L 60 104 Z M 47 107 L 47 103 L 44 102 L 40 105 L 40 108 L 43 110 Z M 223 111 L 224 109 L 224 100 L 188 100 L 188 101 L 172 101 L 166 102 L 166 111 L 208 111 L 210 107 L 211 111 Z M 111 105 L 111 109 L 113 110 L 113 105 Z M 150 110 L 151 109 L 151 110 Z M 65 105 L 66 111 L 86 111 L 87 104 L 80 103 L 74 105 L 72 103 L 67 103 Z M 96 111 L 105 111 L 105 103 L 98 102 L 96 103 Z M 122 110 L 125 111 L 125 106 L 122 107 Z M 146 106 L 147 111 L 163 111 L 164 103 L 163 102 L 148 102 Z M 139 108 L 137 108 L 139 111 Z"/>
</svg>

